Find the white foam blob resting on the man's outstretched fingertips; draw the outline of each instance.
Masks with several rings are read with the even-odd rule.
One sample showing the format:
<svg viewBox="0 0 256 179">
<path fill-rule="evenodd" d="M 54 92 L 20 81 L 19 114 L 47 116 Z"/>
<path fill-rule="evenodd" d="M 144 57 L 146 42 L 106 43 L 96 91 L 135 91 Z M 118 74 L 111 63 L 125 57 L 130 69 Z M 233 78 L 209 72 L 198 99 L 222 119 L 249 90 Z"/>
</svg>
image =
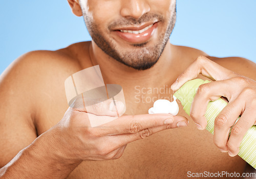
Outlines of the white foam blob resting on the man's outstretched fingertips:
<svg viewBox="0 0 256 179">
<path fill-rule="evenodd" d="M 173 102 L 166 99 L 156 100 L 154 106 L 148 110 L 148 114 L 169 113 L 176 116 L 179 112 L 179 105 L 176 99 L 177 98 L 174 96 Z"/>
</svg>

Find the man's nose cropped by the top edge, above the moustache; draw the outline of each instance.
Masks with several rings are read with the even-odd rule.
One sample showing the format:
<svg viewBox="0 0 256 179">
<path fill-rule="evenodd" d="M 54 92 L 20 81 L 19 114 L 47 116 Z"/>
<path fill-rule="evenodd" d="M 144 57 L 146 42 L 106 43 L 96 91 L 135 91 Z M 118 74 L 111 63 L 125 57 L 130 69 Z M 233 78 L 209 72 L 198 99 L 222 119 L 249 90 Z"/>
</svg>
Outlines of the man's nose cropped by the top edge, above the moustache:
<svg viewBox="0 0 256 179">
<path fill-rule="evenodd" d="M 145 0 L 123 1 L 121 16 L 140 18 L 143 14 L 150 11 L 150 5 Z"/>
</svg>

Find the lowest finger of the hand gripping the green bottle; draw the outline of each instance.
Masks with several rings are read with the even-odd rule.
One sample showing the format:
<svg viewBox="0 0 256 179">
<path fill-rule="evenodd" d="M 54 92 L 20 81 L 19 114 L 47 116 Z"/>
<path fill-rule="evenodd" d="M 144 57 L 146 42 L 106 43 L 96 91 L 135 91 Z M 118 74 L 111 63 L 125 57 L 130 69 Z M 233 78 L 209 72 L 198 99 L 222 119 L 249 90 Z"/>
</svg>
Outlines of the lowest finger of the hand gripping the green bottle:
<svg viewBox="0 0 256 179">
<path fill-rule="evenodd" d="M 245 110 L 236 124 L 231 129 L 230 137 L 227 142 L 228 154 L 231 157 L 238 155 L 239 146 L 248 129 L 255 122 L 255 110 Z"/>
</svg>

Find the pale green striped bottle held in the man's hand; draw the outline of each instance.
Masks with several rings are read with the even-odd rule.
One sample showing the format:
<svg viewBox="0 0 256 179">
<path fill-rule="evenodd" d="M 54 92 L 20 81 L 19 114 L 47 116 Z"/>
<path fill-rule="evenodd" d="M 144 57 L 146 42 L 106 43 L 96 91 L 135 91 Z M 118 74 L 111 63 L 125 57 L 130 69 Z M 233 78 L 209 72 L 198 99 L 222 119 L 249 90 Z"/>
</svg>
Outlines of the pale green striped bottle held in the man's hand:
<svg viewBox="0 0 256 179">
<path fill-rule="evenodd" d="M 191 103 L 200 85 L 210 83 L 208 80 L 195 79 L 185 83 L 174 96 L 181 101 L 183 109 L 189 115 Z M 227 102 L 222 98 L 210 101 L 205 113 L 207 119 L 206 130 L 214 134 L 214 121 L 222 109 L 227 106 Z M 237 121 L 240 117 L 238 117 Z M 240 145 L 238 156 L 256 169 L 256 126 L 253 125 L 245 134 Z"/>
</svg>

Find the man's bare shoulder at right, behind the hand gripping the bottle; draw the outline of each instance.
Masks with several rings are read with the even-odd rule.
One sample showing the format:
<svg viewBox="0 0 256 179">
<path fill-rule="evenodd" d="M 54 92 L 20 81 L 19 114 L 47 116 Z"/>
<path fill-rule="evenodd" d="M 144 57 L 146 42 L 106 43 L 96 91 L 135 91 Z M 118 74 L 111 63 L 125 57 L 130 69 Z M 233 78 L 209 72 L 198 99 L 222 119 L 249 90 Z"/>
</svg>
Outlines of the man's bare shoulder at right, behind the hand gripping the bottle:
<svg viewBox="0 0 256 179">
<path fill-rule="evenodd" d="M 241 57 L 217 58 L 209 56 L 207 58 L 227 69 L 230 69 L 231 71 L 237 72 L 241 75 L 256 80 L 256 63 L 248 59 Z"/>
</svg>

